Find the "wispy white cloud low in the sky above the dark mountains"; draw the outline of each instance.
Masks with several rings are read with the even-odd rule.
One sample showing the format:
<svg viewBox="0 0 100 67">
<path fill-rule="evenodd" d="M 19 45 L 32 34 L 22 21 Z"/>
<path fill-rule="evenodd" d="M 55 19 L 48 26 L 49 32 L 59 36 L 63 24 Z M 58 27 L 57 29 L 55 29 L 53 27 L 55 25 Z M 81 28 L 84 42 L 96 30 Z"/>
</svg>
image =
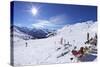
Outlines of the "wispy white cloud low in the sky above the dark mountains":
<svg viewBox="0 0 100 67">
<path fill-rule="evenodd" d="M 64 25 L 65 19 L 64 15 L 57 15 L 50 17 L 48 20 L 36 20 L 36 23 L 32 26 L 35 28 L 59 28 Z"/>
</svg>

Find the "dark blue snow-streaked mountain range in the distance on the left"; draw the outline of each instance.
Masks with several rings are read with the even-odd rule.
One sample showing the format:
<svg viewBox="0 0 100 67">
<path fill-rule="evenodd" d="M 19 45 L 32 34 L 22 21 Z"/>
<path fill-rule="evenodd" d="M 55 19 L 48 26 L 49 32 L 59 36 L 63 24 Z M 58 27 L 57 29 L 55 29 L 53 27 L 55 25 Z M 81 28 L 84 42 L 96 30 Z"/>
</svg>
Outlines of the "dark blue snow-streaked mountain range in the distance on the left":
<svg viewBox="0 0 100 67">
<path fill-rule="evenodd" d="M 37 28 L 27 28 L 27 27 L 18 27 L 13 26 L 14 36 L 23 38 L 23 39 L 41 39 L 47 38 L 48 34 L 52 33 L 48 29 L 37 29 Z"/>
</svg>

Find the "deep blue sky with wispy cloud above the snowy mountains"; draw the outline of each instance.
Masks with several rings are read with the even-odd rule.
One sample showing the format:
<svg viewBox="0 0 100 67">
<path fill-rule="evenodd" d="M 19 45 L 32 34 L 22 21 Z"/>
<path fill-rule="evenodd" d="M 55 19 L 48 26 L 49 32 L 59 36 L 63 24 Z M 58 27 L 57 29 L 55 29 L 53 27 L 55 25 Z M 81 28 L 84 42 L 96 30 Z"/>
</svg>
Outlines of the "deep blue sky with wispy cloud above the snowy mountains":
<svg viewBox="0 0 100 67">
<path fill-rule="evenodd" d="M 96 6 L 13 2 L 13 23 L 18 26 L 58 29 L 66 24 L 97 21 Z M 32 14 L 32 8 L 37 10 Z"/>
</svg>

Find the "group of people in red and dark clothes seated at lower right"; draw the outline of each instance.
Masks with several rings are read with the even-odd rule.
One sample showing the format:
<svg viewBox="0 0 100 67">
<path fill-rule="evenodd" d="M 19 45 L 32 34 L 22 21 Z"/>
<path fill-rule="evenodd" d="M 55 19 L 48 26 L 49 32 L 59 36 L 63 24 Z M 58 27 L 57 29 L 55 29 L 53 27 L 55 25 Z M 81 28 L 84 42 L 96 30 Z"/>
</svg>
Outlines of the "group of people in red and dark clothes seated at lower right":
<svg viewBox="0 0 100 67">
<path fill-rule="evenodd" d="M 87 41 L 85 42 L 85 44 L 87 44 L 88 46 L 86 45 L 85 47 L 80 47 L 79 50 L 72 50 L 72 54 L 78 59 L 82 58 L 84 55 L 92 51 L 93 46 L 97 46 L 97 34 L 95 34 L 94 37 L 89 38 L 89 33 L 87 33 Z"/>
</svg>

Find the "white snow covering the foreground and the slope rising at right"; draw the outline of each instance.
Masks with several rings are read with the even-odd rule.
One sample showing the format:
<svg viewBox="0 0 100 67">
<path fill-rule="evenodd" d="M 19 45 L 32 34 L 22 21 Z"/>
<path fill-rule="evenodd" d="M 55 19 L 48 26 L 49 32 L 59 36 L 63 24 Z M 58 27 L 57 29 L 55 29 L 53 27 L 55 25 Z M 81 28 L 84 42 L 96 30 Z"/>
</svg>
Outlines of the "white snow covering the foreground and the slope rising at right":
<svg viewBox="0 0 100 67">
<path fill-rule="evenodd" d="M 77 49 L 86 46 L 84 42 L 87 40 L 87 32 L 90 33 L 91 37 L 94 36 L 97 33 L 97 22 L 87 21 L 66 25 L 57 31 L 57 35 L 44 39 L 23 40 L 19 37 L 14 37 L 14 65 L 77 62 L 77 58 L 72 55 L 71 50 L 73 50 L 74 46 L 77 46 Z M 22 33 L 16 34 L 23 35 Z M 60 44 L 61 38 L 65 39 L 66 42 Z M 64 49 L 64 44 L 67 42 L 72 46 L 67 45 L 68 48 Z M 57 48 L 61 49 L 57 51 Z M 67 51 L 66 55 L 57 58 Z M 70 60 L 70 58 L 74 59 Z"/>
</svg>

